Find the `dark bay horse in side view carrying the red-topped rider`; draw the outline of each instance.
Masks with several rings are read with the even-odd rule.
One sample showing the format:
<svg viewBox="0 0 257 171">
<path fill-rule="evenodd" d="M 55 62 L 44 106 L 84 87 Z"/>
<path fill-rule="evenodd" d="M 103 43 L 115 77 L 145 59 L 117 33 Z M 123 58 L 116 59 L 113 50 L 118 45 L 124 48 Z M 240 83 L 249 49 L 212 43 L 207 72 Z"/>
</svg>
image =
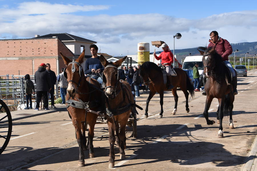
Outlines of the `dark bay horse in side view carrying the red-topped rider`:
<svg viewBox="0 0 257 171">
<path fill-rule="evenodd" d="M 146 108 L 145 108 L 145 118 L 148 117 L 148 105 L 152 97 L 155 95 L 156 92 L 160 94 L 160 105 L 161 105 L 161 112 L 159 118 L 162 118 L 163 113 L 163 93 L 164 91 L 172 90 L 172 94 L 175 99 L 175 106 L 174 110 L 172 111 L 172 115 L 176 114 L 177 105 L 178 105 L 178 94 L 177 94 L 177 87 L 179 86 L 180 89 L 183 91 L 186 97 L 186 112 L 189 112 L 188 108 L 188 95 L 194 97 L 194 87 L 190 83 L 190 80 L 184 70 L 181 68 L 174 68 L 177 73 L 176 77 L 172 77 L 172 85 L 174 86 L 172 89 L 167 89 L 167 84 L 164 84 L 163 81 L 163 74 L 162 69 L 158 67 L 153 62 L 144 62 L 139 69 L 139 75 L 144 80 L 144 83 L 149 86 L 150 93 L 146 100 Z M 168 80 L 168 79 L 167 79 Z M 189 93 L 188 93 L 188 91 Z"/>
</svg>

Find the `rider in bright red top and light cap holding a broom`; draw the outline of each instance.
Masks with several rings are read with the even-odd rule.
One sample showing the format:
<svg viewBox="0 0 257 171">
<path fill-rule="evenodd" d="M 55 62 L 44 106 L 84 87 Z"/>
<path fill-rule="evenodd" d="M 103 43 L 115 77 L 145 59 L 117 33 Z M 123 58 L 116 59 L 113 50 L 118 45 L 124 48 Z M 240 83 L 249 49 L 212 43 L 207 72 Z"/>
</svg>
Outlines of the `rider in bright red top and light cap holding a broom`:
<svg viewBox="0 0 257 171">
<path fill-rule="evenodd" d="M 157 60 L 162 60 L 161 64 L 164 65 L 166 67 L 166 72 L 167 72 L 167 76 L 169 79 L 169 85 L 168 85 L 168 89 L 172 89 L 173 86 L 171 84 L 171 80 L 172 80 L 172 76 L 177 76 L 175 70 L 173 69 L 173 67 L 171 66 L 171 64 L 173 63 L 173 54 L 169 49 L 169 46 L 166 43 L 162 44 L 162 50 L 163 52 L 161 52 L 161 54 L 159 56 L 156 56 L 155 52 L 153 53 L 155 59 Z"/>
</svg>

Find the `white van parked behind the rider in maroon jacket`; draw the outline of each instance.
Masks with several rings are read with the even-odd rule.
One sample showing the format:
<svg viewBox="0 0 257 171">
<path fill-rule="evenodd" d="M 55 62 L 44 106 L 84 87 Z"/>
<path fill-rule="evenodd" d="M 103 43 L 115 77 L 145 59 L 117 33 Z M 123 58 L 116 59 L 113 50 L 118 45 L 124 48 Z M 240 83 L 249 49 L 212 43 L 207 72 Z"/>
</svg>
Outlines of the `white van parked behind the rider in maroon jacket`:
<svg viewBox="0 0 257 171">
<path fill-rule="evenodd" d="M 192 70 L 193 67 L 194 67 L 194 64 L 195 63 L 198 63 L 199 66 L 198 66 L 198 71 L 199 71 L 199 74 L 200 74 L 200 81 L 201 81 L 201 84 L 203 85 L 202 83 L 202 79 L 203 79 L 203 63 L 202 63 L 202 56 L 187 56 L 183 62 L 183 65 L 182 65 L 182 69 L 183 70 Z"/>
</svg>

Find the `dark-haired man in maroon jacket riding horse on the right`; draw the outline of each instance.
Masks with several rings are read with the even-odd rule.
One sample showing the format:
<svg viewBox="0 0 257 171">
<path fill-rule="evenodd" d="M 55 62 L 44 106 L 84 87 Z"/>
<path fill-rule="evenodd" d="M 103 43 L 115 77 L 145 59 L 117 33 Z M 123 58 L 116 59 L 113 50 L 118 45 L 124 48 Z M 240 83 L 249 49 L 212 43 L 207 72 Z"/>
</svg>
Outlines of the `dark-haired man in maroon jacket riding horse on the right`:
<svg viewBox="0 0 257 171">
<path fill-rule="evenodd" d="M 230 62 L 228 62 L 228 56 L 230 54 L 232 54 L 233 50 L 232 47 L 230 45 L 230 43 L 228 42 L 228 40 L 221 38 L 218 35 L 218 32 L 216 31 L 212 31 L 210 33 L 210 40 L 209 40 L 209 45 L 208 48 L 214 48 L 218 54 L 220 54 L 220 56 L 223 59 L 223 63 L 228 66 L 228 68 L 230 69 L 231 73 L 232 73 L 232 85 L 233 85 L 233 95 L 237 95 L 238 92 L 236 90 L 237 87 L 237 78 L 236 78 L 236 73 L 234 68 L 232 67 L 232 65 L 230 64 Z"/>
</svg>

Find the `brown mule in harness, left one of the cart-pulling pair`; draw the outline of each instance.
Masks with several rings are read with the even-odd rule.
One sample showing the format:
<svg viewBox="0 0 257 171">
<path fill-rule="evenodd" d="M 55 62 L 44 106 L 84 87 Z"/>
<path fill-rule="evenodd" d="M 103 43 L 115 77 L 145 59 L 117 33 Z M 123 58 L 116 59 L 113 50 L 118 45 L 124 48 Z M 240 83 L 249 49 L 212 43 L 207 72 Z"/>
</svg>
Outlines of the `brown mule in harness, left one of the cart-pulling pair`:
<svg viewBox="0 0 257 171">
<path fill-rule="evenodd" d="M 61 53 L 61 52 L 60 52 Z M 101 110 L 101 104 L 104 104 L 104 99 L 101 98 L 101 85 L 93 78 L 85 78 L 81 63 L 85 56 L 85 49 L 77 60 L 71 61 L 62 53 L 66 68 L 64 76 L 68 81 L 66 105 L 69 114 L 71 115 L 73 126 L 75 127 L 76 138 L 79 144 L 79 163 L 78 166 L 85 166 L 84 152 L 87 150 L 87 141 L 85 136 L 85 124 L 89 124 L 88 131 L 88 147 L 89 158 L 94 157 L 93 137 L 97 115 L 87 112 L 85 108 L 89 107 L 92 111 Z"/>
</svg>

